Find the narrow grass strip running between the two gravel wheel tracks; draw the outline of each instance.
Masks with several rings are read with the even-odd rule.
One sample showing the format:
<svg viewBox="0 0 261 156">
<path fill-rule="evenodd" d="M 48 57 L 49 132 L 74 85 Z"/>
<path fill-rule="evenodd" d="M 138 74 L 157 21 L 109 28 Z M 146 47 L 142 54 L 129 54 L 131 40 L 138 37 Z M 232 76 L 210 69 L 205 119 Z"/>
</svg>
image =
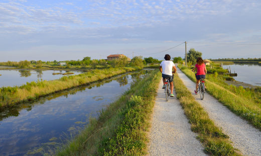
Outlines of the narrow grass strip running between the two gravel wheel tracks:
<svg viewBox="0 0 261 156">
<path fill-rule="evenodd" d="M 231 145 L 228 136 L 209 118 L 207 112 L 195 101 L 178 74 L 175 74 L 174 86 L 185 114 L 190 120 L 191 129 L 198 133 L 205 152 L 211 155 L 240 155 Z"/>
</svg>

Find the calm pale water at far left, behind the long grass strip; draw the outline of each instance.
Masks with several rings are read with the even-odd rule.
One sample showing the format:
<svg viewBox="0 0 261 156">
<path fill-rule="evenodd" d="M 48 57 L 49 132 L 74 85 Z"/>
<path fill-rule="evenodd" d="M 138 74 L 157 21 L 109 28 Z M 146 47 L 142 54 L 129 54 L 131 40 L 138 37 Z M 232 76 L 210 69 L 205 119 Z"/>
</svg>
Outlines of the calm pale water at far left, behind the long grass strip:
<svg viewBox="0 0 261 156">
<path fill-rule="evenodd" d="M 65 73 L 65 70 L 1 70 L 0 69 L 0 87 L 2 86 L 14 86 L 14 85 L 22 85 L 26 82 L 37 81 L 37 79 L 43 80 L 53 80 L 59 79 L 64 76 L 62 74 L 52 73 Z M 81 71 L 69 71 L 74 72 L 74 74 L 82 73 Z"/>
</svg>

